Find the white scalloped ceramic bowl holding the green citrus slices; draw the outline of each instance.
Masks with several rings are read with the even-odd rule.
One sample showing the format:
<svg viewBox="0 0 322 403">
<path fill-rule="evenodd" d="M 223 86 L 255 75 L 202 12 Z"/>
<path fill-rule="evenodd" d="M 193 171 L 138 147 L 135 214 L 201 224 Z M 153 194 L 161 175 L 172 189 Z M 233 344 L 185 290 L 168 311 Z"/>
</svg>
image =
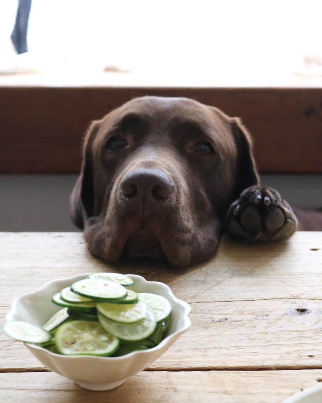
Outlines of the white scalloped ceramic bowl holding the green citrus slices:
<svg viewBox="0 0 322 403">
<path fill-rule="evenodd" d="M 14 299 L 11 310 L 6 315 L 6 320 L 22 320 L 42 326 L 55 312 L 61 309 L 51 302 L 52 296 L 64 287 L 68 287 L 88 275 L 89 273 L 78 274 L 69 278 L 49 281 L 37 291 Z M 116 388 L 130 376 L 147 368 L 178 339 L 180 334 L 189 328 L 191 324 L 188 318 L 190 306 L 176 298 L 171 289 L 163 283 L 147 281 L 135 274 L 129 276 L 134 280 L 134 285 L 129 289 L 163 295 L 171 303 L 171 324 L 167 329 L 167 337 L 156 347 L 134 351 L 122 357 L 95 357 L 59 355 L 37 345 L 26 343 L 31 353 L 50 370 L 92 391 Z"/>
</svg>

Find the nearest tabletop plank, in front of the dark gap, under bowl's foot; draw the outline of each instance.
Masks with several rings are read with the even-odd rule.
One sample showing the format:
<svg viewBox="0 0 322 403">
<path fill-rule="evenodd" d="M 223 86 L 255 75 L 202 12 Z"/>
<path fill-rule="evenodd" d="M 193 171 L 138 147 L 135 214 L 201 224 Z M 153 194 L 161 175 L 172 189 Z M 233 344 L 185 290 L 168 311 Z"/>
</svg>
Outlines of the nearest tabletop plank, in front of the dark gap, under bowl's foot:
<svg viewBox="0 0 322 403">
<path fill-rule="evenodd" d="M 1 374 L 1 401 L 15 403 L 280 403 L 317 385 L 322 371 L 140 372 L 108 392 L 91 392 L 53 372 Z"/>
</svg>

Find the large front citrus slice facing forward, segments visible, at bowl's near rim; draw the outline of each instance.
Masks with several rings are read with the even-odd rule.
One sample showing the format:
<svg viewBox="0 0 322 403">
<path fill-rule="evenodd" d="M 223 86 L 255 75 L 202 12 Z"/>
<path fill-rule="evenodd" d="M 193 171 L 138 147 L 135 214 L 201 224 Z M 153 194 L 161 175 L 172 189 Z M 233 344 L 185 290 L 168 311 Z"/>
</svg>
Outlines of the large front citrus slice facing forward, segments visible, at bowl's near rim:
<svg viewBox="0 0 322 403">
<path fill-rule="evenodd" d="M 119 339 L 107 332 L 99 322 L 71 320 L 56 333 L 56 347 L 64 355 L 102 355 L 118 349 Z"/>
</svg>

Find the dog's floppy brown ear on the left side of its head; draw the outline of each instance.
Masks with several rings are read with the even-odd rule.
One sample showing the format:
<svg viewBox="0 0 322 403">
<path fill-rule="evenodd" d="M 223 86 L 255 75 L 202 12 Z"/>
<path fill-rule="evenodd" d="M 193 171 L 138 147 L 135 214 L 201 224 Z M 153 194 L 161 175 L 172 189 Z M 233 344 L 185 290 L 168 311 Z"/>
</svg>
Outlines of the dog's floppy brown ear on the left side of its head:
<svg viewBox="0 0 322 403">
<path fill-rule="evenodd" d="M 84 228 L 85 218 L 93 216 L 94 185 L 91 148 L 98 129 L 99 121 L 93 121 L 86 133 L 81 173 L 77 178 L 69 200 L 70 218 L 79 229 Z"/>
</svg>

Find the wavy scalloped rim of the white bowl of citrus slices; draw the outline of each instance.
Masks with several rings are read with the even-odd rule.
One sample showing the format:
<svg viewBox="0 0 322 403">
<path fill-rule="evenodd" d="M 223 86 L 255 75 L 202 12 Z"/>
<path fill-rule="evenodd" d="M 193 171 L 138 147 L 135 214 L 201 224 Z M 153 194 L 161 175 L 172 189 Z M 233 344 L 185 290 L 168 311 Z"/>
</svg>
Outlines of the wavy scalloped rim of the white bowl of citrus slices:
<svg viewBox="0 0 322 403">
<path fill-rule="evenodd" d="M 54 284 L 54 283 L 58 283 L 60 281 L 71 281 L 74 278 L 78 278 L 80 276 L 83 276 L 84 278 L 86 276 L 88 276 L 91 273 L 80 273 L 80 274 L 75 274 L 74 276 L 71 277 L 64 277 L 64 278 L 56 278 L 54 280 L 50 280 L 47 281 L 44 285 L 42 285 L 41 287 L 39 287 L 37 290 L 32 291 L 31 293 L 27 293 L 24 295 L 21 295 L 20 297 L 15 298 L 12 301 L 12 305 L 11 305 L 11 309 L 10 311 L 6 314 L 5 318 L 7 322 L 10 322 L 11 320 L 8 320 L 7 318 L 10 316 L 14 315 L 14 312 L 17 312 L 17 305 L 21 304 L 20 299 L 25 298 L 25 297 L 29 297 L 32 295 L 37 295 L 37 293 L 39 293 L 40 291 L 45 290 L 49 285 Z M 167 345 L 167 343 L 176 335 L 180 335 L 183 332 L 185 332 L 191 325 L 191 320 L 188 317 L 188 314 L 191 311 L 191 307 L 190 305 L 185 302 L 182 301 L 182 299 L 179 299 L 177 297 L 175 297 L 175 295 L 173 294 L 173 292 L 171 291 L 171 288 L 165 284 L 165 283 L 161 283 L 160 281 L 148 281 L 146 280 L 143 276 L 140 276 L 138 274 L 125 274 L 126 276 L 129 276 L 130 278 L 133 278 L 133 280 L 135 280 L 135 278 L 140 278 L 141 281 L 143 281 L 143 283 L 149 283 L 149 284 L 156 284 L 156 285 L 160 285 L 161 287 L 164 287 L 165 290 L 169 293 L 169 295 L 171 296 L 171 298 L 173 299 L 173 301 L 175 303 L 178 303 L 179 305 L 181 305 L 182 307 L 184 307 L 184 314 L 183 314 L 183 320 L 184 320 L 184 324 L 183 326 L 176 330 L 175 332 L 169 334 L 167 337 L 165 337 L 158 345 L 156 345 L 155 347 L 151 347 L 150 349 L 147 350 L 138 350 L 138 351 L 132 351 L 131 353 L 125 354 L 125 355 L 121 355 L 120 357 L 101 357 L 99 355 L 61 355 L 61 354 L 56 354 L 56 353 L 52 353 L 52 351 L 49 351 L 43 347 L 40 347 L 36 344 L 33 343 L 24 343 L 25 345 L 28 345 L 28 347 L 31 347 L 32 349 L 36 349 L 36 350 L 41 350 L 44 353 L 48 354 L 48 355 L 52 355 L 53 357 L 64 357 L 67 359 L 84 359 L 85 357 L 91 361 L 93 360 L 102 360 L 102 361 L 106 361 L 106 359 L 108 359 L 108 361 L 124 361 L 130 357 L 133 357 L 135 355 L 145 355 L 145 354 L 149 354 L 152 351 L 157 351 L 159 349 L 161 349 L 163 346 Z"/>
</svg>

